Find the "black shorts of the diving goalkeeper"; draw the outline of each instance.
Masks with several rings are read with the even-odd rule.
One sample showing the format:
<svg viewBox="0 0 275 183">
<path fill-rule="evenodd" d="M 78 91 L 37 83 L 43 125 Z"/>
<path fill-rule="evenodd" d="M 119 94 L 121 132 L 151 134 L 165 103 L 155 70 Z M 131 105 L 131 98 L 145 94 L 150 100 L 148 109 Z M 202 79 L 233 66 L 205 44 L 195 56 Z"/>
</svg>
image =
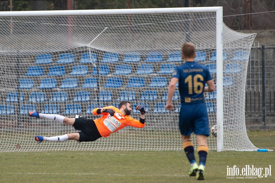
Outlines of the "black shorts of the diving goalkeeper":
<svg viewBox="0 0 275 183">
<path fill-rule="evenodd" d="M 75 130 L 80 130 L 80 132 L 77 132 L 79 133 L 80 142 L 96 141 L 98 138 L 102 137 L 92 119 L 75 118 L 73 127 Z"/>
</svg>

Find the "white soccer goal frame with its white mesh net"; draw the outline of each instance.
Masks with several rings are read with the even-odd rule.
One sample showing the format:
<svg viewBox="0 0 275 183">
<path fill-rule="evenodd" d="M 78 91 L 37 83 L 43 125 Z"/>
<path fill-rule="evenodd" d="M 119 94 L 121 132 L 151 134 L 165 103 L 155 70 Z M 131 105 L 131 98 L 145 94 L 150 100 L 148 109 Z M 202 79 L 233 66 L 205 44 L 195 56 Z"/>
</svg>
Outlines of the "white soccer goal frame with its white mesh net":
<svg viewBox="0 0 275 183">
<path fill-rule="evenodd" d="M 222 7 L 2 12 L 0 151 L 182 150 L 180 100 L 166 111 L 167 87 L 181 46 L 196 46 L 217 90 L 205 94 L 211 150 L 253 151 L 244 118 L 248 58 L 255 34 L 222 23 Z M 95 119 L 97 107 L 130 101 L 147 111 L 145 127 L 126 127 L 94 142 L 34 141 L 73 127 L 28 117 L 29 111 Z M 223 130 L 222 130 L 223 129 Z M 193 143 L 197 147 L 194 135 Z M 217 142 L 218 141 L 218 142 Z M 218 149 L 217 149 L 218 143 Z"/>
</svg>

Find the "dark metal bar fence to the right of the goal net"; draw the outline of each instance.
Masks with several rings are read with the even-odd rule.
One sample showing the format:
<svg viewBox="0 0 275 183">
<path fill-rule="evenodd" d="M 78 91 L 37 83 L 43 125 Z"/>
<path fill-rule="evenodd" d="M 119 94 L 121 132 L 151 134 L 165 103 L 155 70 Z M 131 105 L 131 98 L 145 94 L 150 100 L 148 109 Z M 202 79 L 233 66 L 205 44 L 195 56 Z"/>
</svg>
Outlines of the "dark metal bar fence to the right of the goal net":
<svg viewBox="0 0 275 183">
<path fill-rule="evenodd" d="M 246 124 L 274 124 L 275 43 L 254 45 L 248 62 L 245 118 Z"/>
</svg>

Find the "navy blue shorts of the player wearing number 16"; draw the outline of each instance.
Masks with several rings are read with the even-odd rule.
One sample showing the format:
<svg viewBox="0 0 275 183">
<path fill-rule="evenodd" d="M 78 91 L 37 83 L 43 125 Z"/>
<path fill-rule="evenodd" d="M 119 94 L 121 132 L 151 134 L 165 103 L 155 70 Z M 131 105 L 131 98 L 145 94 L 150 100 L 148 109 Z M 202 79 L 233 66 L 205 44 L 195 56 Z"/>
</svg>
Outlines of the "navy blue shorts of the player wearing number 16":
<svg viewBox="0 0 275 183">
<path fill-rule="evenodd" d="M 179 128 L 182 135 L 209 136 L 207 107 L 204 102 L 182 105 L 179 115 Z"/>
</svg>

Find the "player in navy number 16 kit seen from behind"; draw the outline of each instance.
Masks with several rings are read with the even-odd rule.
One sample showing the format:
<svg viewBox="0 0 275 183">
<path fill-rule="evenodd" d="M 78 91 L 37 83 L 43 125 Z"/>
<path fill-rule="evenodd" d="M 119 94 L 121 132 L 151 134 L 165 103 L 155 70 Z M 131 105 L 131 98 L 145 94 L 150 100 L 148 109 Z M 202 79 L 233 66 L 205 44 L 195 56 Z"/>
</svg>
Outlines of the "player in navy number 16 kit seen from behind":
<svg viewBox="0 0 275 183">
<path fill-rule="evenodd" d="M 196 63 L 196 51 L 192 43 L 182 45 L 182 58 L 184 64 L 175 67 L 168 87 L 168 99 L 166 110 L 173 108 L 172 97 L 176 83 L 181 98 L 181 110 L 179 115 L 179 128 L 182 135 L 182 146 L 191 163 L 190 176 L 196 176 L 197 180 L 204 180 L 204 169 L 208 146 L 206 138 L 209 136 L 207 107 L 204 102 L 204 92 L 213 92 L 215 85 L 212 76 L 206 66 Z M 205 86 L 207 83 L 208 86 Z M 194 132 L 198 142 L 199 165 L 194 156 L 194 146 L 191 141 L 191 133 Z"/>
</svg>

